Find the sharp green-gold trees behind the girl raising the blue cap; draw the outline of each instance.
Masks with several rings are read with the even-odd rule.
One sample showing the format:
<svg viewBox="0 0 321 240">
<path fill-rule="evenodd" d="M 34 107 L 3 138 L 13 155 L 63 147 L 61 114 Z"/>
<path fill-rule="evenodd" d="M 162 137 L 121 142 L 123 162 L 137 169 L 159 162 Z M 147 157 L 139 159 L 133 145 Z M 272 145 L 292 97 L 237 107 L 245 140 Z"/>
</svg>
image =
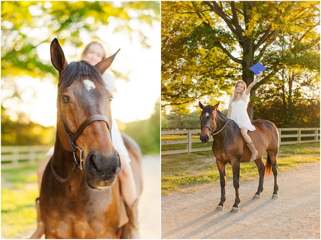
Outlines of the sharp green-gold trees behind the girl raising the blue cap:
<svg viewBox="0 0 321 240">
<path fill-rule="evenodd" d="M 164 1 L 161 9 L 164 114 L 231 95 L 260 62 L 267 70 L 251 89 L 250 119 L 319 126 L 320 2 Z"/>
</svg>

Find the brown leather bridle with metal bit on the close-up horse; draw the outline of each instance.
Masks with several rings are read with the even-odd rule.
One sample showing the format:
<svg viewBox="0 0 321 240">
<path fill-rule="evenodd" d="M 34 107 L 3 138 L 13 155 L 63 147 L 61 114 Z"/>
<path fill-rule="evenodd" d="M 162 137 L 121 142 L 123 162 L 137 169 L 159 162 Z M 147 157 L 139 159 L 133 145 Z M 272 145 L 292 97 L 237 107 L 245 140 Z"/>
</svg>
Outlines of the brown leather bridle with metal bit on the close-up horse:
<svg viewBox="0 0 321 240">
<path fill-rule="evenodd" d="M 86 74 L 86 73 L 82 73 L 82 72 L 80 73 L 80 75 L 85 75 L 85 74 Z M 88 75 L 88 74 L 87 74 L 87 75 Z M 104 115 L 95 114 L 95 115 L 91 115 L 91 116 L 88 117 L 86 120 L 84 120 L 84 121 L 82 122 L 82 124 L 79 126 L 79 128 L 78 128 L 78 129 L 75 131 L 75 133 L 73 134 L 73 133 L 71 133 L 71 132 L 69 131 L 69 129 L 68 129 L 67 126 L 65 125 L 65 122 L 63 121 L 62 114 L 61 114 L 61 105 L 60 105 L 60 101 L 59 101 L 59 95 L 58 95 L 58 98 L 57 98 L 57 110 L 58 110 L 59 119 L 60 119 L 60 121 L 62 122 L 62 125 L 63 125 L 63 127 L 64 127 L 64 129 L 65 129 L 65 133 L 66 133 L 66 136 L 67 136 L 67 138 L 68 138 L 68 141 L 69 141 L 69 144 L 70 144 L 70 148 L 71 148 L 72 152 L 74 153 L 74 160 L 75 160 L 75 161 L 74 161 L 74 167 L 73 167 L 72 171 L 70 172 L 69 176 L 68 176 L 67 178 L 65 178 L 65 179 L 61 178 L 61 177 L 56 173 L 56 171 L 54 170 L 54 167 L 53 167 L 53 165 L 52 165 L 52 159 L 50 160 L 50 162 L 51 162 L 50 164 L 51 164 L 51 170 L 52 170 L 55 178 L 56 178 L 59 182 L 65 182 L 65 181 L 67 181 L 67 180 L 71 177 L 71 175 L 72 175 L 74 172 L 77 171 L 77 167 L 80 168 L 80 170 L 83 169 L 83 164 L 84 164 L 85 158 L 84 158 L 84 156 L 83 156 L 83 154 L 82 154 L 82 149 L 80 149 L 79 147 L 76 146 L 76 139 L 77 139 L 77 137 L 79 137 L 79 135 L 82 133 L 82 131 L 83 131 L 89 124 L 91 124 L 91 123 L 94 122 L 94 121 L 104 121 L 104 122 L 106 122 L 106 124 L 107 124 L 107 128 L 108 128 L 108 130 L 109 130 L 109 134 L 110 134 L 110 138 L 111 138 L 111 128 L 110 128 L 110 124 L 109 124 L 107 118 L 106 118 Z M 79 152 L 80 152 L 80 158 L 79 158 L 80 161 L 78 161 L 78 160 L 76 159 L 75 153 L 76 153 L 77 150 L 79 150 Z"/>
</svg>

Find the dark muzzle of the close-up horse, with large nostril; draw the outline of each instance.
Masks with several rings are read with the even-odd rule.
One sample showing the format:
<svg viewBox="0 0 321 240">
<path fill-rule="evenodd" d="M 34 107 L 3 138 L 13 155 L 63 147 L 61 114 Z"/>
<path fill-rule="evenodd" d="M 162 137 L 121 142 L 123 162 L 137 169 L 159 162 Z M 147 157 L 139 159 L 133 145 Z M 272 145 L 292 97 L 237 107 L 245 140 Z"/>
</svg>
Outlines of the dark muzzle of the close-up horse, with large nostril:
<svg viewBox="0 0 321 240">
<path fill-rule="evenodd" d="M 112 186 L 121 170 L 121 162 L 117 151 L 104 156 L 98 151 L 91 151 L 85 160 L 85 175 L 91 188 L 102 189 Z"/>
</svg>

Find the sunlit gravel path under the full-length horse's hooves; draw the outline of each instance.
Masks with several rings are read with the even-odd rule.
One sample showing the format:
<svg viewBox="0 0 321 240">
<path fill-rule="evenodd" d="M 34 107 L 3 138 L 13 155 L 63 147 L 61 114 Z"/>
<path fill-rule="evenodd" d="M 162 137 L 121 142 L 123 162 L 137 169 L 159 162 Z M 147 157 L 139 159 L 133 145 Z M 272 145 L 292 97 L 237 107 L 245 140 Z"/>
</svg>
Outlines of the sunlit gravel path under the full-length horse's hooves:
<svg viewBox="0 0 321 240">
<path fill-rule="evenodd" d="M 278 175 L 279 199 L 272 200 L 274 179 L 264 180 L 260 200 L 252 200 L 258 179 L 240 179 L 240 211 L 230 213 L 235 200 L 233 180 L 227 180 L 225 209 L 219 183 L 192 194 L 161 199 L 162 238 L 320 238 L 320 162 Z"/>
</svg>

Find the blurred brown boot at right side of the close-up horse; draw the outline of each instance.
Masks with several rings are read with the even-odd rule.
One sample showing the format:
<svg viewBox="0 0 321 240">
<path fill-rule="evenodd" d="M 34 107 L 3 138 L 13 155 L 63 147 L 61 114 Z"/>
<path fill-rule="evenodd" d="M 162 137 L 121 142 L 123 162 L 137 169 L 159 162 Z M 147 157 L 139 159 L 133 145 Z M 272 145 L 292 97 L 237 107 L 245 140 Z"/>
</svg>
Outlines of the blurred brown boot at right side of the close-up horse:
<svg viewBox="0 0 321 240">
<path fill-rule="evenodd" d="M 124 201 L 125 202 L 125 201 Z M 139 224 L 138 224 L 138 199 L 135 200 L 132 207 L 125 202 L 126 212 L 129 219 L 128 239 L 140 239 Z"/>
</svg>

